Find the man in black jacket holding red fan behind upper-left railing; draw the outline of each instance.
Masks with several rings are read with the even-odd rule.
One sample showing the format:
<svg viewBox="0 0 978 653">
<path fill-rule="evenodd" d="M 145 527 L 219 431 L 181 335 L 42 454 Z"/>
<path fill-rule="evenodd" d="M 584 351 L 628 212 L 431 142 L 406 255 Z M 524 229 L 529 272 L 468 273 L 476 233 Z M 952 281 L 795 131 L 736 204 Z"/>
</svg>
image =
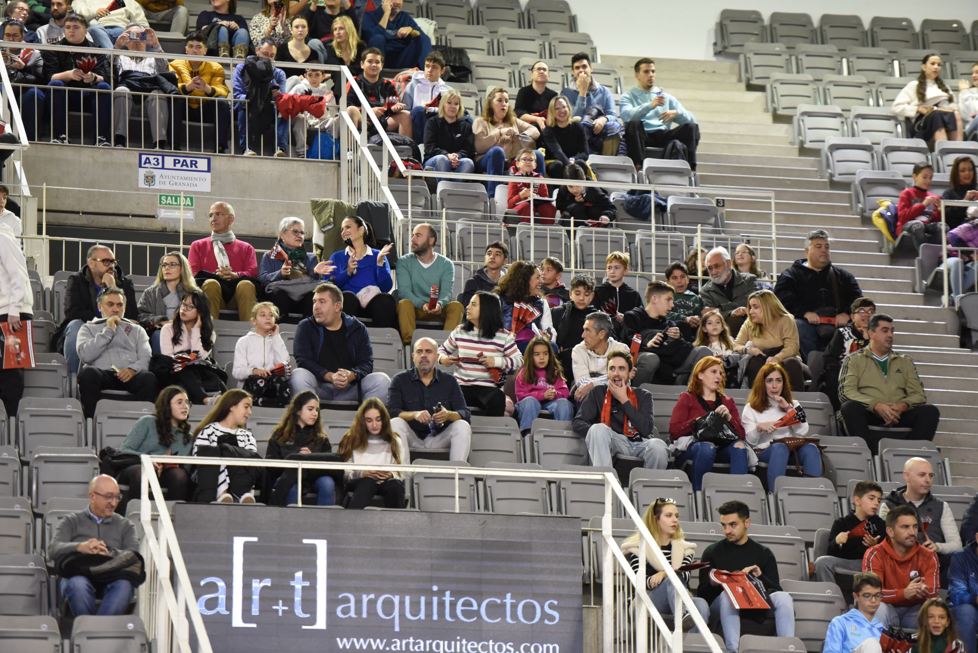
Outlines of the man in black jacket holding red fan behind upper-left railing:
<svg viewBox="0 0 978 653">
<path fill-rule="evenodd" d="M 56 45 L 67 47 L 93 47 L 86 42 L 88 21 L 78 14 L 65 18 L 65 38 Z M 60 50 L 44 51 L 44 77 L 51 90 L 51 142 L 67 143 L 67 112 L 83 107 L 95 113 L 98 128 L 95 143 L 99 147 L 111 147 L 112 97 L 109 76 L 109 58 L 87 52 L 75 53 Z M 68 89 L 76 89 L 69 93 Z"/>
</svg>

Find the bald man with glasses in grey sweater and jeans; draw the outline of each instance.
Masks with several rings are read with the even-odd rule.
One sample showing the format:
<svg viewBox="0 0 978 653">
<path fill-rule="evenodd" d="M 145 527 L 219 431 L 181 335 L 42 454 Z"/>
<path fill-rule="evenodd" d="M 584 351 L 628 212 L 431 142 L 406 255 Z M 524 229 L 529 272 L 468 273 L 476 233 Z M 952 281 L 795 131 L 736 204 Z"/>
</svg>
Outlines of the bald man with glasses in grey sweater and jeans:
<svg viewBox="0 0 978 653">
<path fill-rule="evenodd" d="M 119 567 L 134 561 L 139 539 L 131 521 L 115 513 L 122 499 L 119 486 L 111 476 L 102 474 L 88 484 L 88 507 L 69 514 L 58 525 L 48 557 L 56 565 L 72 553 L 106 556 L 106 562 L 117 560 Z M 121 615 L 132 600 L 133 585 L 125 579 L 111 583 L 93 583 L 84 576 L 61 579 L 61 590 L 74 616 Z M 96 597 L 102 604 L 96 608 Z"/>
</svg>

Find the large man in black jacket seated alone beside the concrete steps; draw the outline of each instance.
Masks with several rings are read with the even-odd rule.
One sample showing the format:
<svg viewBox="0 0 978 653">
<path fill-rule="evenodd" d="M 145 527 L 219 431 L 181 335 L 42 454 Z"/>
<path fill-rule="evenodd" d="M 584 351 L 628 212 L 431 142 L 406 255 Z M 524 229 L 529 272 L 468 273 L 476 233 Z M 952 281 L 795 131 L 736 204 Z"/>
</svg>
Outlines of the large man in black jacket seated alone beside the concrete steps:
<svg viewBox="0 0 978 653">
<path fill-rule="evenodd" d="M 824 349 L 835 329 L 849 324 L 849 309 L 863 296 L 852 273 L 832 265 L 828 232 L 809 232 L 807 258 L 800 258 L 778 276 L 775 294 L 795 317 L 803 361 Z"/>
</svg>

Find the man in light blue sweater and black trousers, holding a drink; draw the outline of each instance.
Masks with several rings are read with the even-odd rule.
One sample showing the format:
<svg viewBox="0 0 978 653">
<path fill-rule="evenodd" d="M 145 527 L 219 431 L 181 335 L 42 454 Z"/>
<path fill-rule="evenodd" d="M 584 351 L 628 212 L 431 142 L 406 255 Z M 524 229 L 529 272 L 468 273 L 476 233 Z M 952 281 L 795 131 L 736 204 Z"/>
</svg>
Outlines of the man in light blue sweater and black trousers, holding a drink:
<svg viewBox="0 0 978 653">
<path fill-rule="evenodd" d="M 625 123 L 625 144 L 628 156 L 642 167 L 645 148 L 665 148 L 672 141 L 686 147 L 689 167 L 696 169 L 696 145 L 699 143 L 699 127 L 696 116 L 673 96 L 655 86 L 655 62 L 640 59 L 635 63 L 638 88 L 621 96 L 619 107 Z M 678 126 L 677 126 L 678 125 Z"/>
</svg>

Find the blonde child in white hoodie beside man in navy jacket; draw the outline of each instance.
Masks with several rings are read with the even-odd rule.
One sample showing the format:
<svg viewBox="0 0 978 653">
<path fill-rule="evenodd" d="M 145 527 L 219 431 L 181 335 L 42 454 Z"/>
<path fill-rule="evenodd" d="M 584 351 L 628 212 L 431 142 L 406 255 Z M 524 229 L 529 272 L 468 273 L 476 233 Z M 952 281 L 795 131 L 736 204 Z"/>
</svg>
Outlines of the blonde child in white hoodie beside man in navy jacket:
<svg viewBox="0 0 978 653">
<path fill-rule="evenodd" d="M 255 406 L 288 406 L 291 398 L 289 387 L 289 349 L 276 321 L 279 309 L 272 302 L 263 301 L 251 309 L 248 331 L 235 345 L 235 365 L 232 374 L 254 396 Z M 285 375 L 273 372 L 285 363 Z"/>
</svg>

